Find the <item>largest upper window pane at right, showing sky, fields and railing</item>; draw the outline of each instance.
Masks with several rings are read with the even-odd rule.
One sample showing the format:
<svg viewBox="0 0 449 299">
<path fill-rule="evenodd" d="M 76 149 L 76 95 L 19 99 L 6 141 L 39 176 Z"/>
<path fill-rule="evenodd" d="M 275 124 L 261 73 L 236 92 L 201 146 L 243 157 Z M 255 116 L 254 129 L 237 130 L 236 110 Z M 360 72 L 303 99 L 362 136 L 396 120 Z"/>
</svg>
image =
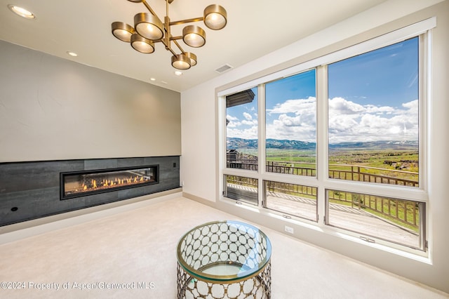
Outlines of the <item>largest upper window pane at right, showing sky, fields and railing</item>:
<svg viewBox="0 0 449 299">
<path fill-rule="evenodd" d="M 328 65 L 330 178 L 419 186 L 418 41 Z"/>
</svg>

